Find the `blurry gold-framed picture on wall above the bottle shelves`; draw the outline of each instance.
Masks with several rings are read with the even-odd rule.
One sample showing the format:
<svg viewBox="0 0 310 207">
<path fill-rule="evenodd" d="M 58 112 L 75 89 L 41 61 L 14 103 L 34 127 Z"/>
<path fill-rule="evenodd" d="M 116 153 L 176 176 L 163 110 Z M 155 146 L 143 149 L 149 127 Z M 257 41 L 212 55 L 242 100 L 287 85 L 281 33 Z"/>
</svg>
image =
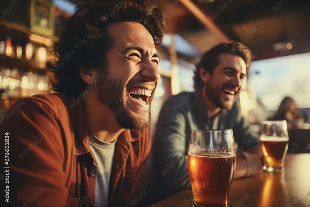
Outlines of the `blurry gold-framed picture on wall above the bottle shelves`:
<svg viewBox="0 0 310 207">
<path fill-rule="evenodd" d="M 31 29 L 40 36 L 54 35 L 54 6 L 46 0 L 31 0 Z"/>
</svg>

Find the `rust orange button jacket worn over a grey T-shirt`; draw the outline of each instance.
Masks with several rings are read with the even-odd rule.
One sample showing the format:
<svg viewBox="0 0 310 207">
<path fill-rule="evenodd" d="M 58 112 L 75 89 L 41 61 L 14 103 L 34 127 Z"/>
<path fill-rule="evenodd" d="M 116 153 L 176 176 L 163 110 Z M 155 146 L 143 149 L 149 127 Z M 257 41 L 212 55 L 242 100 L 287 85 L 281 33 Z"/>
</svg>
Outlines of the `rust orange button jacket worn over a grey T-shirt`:
<svg viewBox="0 0 310 207">
<path fill-rule="evenodd" d="M 151 132 L 125 130 L 117 138 L 108 206 L 136 206 L 135 198 L 145 194 Z M 4 115 L 0 133 L 9 137 L 10 206 L 95 205 L 97 166 L 82 98 L 61 93 L 24 98 Z"/>
</svg>

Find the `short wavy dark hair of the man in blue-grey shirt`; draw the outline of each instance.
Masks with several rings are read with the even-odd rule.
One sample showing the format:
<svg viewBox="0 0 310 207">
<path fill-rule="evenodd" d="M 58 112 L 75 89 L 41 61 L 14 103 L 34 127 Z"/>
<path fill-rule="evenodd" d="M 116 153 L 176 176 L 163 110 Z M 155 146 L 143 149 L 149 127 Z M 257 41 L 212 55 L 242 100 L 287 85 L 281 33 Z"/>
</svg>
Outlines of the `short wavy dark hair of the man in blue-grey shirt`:
<svg viewBox="0 0 310 207">
<path fill-rule="evenodd" d="M 213 74 L 213 71 L 220 63 L 219 54 L 222 53 L 227 53 L 227 59 L 230 57 L 230 55 L 240 56 L 246 63 L 246 69 L 248 69 L 252 56 L 249 48 L 237 41 L 231 43 L 220 43 L 212 47 L 208 52 L 206 52 L 201 57 L 200 62 L 196 65 L 194 86 L 197 86 L 199 83 L 203 82 L 199 74 L 199 70 L 201 68 L 206 70 L 209 74 Z"/>
</svg>

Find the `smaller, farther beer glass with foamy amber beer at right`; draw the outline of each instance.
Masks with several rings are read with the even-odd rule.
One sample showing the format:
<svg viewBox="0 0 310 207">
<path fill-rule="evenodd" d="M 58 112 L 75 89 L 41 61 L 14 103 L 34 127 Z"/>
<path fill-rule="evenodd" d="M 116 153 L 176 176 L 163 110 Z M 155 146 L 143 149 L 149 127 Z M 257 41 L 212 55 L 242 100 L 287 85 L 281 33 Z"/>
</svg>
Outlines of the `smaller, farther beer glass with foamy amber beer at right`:
<svg viewBox="0 0 310 207">
<path fill-rule="evenodd" d="M 264 153 L 264 170 L 284 172 L 284 157 L 289 136 L 286 121 L 262 121 L 260 142 Z"/>
</svg>

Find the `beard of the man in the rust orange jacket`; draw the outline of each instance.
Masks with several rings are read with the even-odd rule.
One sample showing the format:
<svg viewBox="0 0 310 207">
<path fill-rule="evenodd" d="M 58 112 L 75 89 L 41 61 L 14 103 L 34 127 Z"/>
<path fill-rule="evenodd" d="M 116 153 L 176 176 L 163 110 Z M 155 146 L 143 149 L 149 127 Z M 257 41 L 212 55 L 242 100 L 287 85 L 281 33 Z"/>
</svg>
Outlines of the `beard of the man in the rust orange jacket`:
<svg viewBox="0 0 310 207">
<path fill-rule="evenodd" d="M 126 129 L 142 131 L 148 128 L 151 125 L 151 99 L 148 102 L 148 117 L 137 117 L 132 114 L 126 103 L 127 91 L 122 90 L 123 87 L 118 84 L 119 81 L 106 77 L 104 83 L 98 85 L 98 96 L 100 101 L 117 115 L 114 121 Z"/>
</svg>

